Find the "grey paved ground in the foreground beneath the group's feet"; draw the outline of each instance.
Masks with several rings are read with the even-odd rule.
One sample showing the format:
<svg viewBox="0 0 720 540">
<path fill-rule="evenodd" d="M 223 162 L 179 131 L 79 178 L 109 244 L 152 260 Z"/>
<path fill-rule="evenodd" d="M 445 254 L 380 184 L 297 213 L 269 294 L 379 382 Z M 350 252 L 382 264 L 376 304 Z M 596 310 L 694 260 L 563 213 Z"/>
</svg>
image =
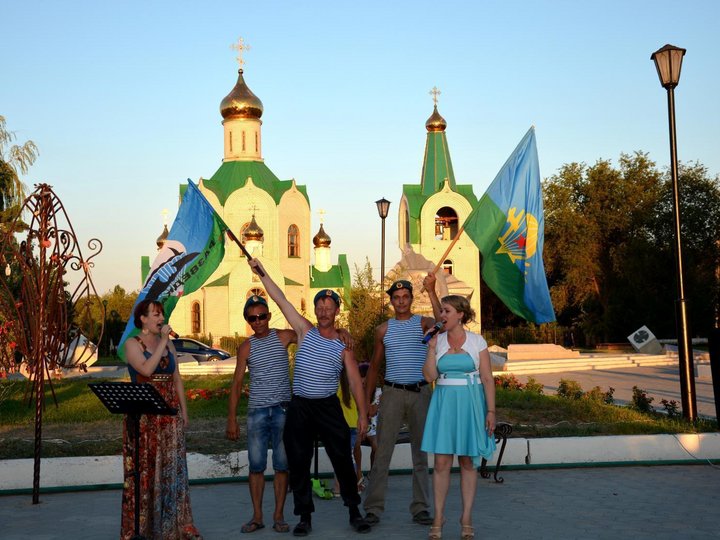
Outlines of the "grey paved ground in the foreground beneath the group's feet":
<svg viewBox="0 0 720 540">
<path fill-rule="evenodd" d="M 504 484 L 480 479 L 475 502 L 477 538 L 487 539 L 677 539 L 717 538 L 720 469 L 711 465 L 545 469 L 505 471 Z M 445 538 L 459 538 L 459 477 L 453 474 Z M 191 487 L 195 523 L 206 540 L 244 538 L 240 527 L 251 515 L 247 484 Z M 391 476 L 388 508 L 369 535 L 353 533 L 339 500 L 316 499 L 311 538 L 426 538 L 427 527 L 412 523 L 407 507 L 410 476 Z M 268 490 L 265 509 L 271 511 Z M 0 497 L 0 537 L 5 540 L 117 538 L 117 490 Z M 286 510 L 291 509 L 288 501 Z M 248 540 L 289 538 L 271 528 Z M 291 525 L 296 519 L 286 513 Z"/>
</svg>

